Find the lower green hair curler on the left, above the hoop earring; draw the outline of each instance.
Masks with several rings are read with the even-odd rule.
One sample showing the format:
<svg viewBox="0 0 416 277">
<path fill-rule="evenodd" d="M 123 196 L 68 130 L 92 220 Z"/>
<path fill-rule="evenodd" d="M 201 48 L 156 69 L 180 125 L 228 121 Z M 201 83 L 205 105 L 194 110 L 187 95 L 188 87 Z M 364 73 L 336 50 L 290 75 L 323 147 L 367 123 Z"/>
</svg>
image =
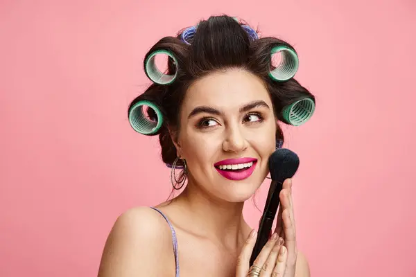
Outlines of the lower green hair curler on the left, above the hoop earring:
<svg viewBox="0 0 416 277">
<path fill-rule="evenodd" d="M 155 111 L 157 116 L 156 121 L 150 120 L 144 114 L 143 106 L 148 106 L 151 109 L 153 109 L 153 111 Z M 160 111 L 159 107 L 157 107 L 155 103 L 150 102 L 148 100 L 141 100 L 135 103 L 135 105 L 133 105 L 130 108 L 128 120 L 130 122 L 130 125 L 133 129 L 135 129 L 136 132 L 148 136 L 153 136 L 157 134 L 157 131 L 159 131 L 160 127 L 162 127 L 163 116 L 162 111 Z"/>
</svg>

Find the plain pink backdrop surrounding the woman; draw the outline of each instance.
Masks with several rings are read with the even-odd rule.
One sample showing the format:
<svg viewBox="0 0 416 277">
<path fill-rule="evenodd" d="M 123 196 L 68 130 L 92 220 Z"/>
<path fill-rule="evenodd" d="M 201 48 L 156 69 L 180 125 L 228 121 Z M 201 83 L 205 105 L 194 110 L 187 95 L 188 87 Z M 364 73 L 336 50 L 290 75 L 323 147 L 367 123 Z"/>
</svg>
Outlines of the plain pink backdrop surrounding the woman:
<svg viewBox="0 0 416 277">
<path fill-rule="evenodd" d="M 150 46 L 222 12 L 291 42 L 317 98 L 285 128 L 312 275 L 416 276 L 412 0 L 1 1 L 0 276 L 96 276 L 116 217 L 168 197 L 128 103 Z M 245 214 L 261 215 L 251 201 Z"/>
</svg>

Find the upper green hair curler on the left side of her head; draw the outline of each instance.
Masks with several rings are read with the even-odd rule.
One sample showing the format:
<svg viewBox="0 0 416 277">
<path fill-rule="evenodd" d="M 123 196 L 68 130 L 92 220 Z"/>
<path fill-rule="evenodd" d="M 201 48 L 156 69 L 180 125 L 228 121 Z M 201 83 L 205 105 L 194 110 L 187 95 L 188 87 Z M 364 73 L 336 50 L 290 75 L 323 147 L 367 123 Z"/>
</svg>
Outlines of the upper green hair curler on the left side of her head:
<svg viewBox="0 0 416 277">
<path fill-rule="evenodd" d="M 175 74 L 173 75 L 165 74 L 162 71 L 159 71 L 159 69 L 157 69 L 156 64 L 155 64 L 155 57 L 157 54 L 166 54 L 173 59 L 173 62 L 175 63 L 175 66 L 176 66 Z M 175 55 L 173 55 L 173 53 L 166 51 L 166 50 L 157 50 L 151 53 L 150 55 L 148 55 L 146 62 L 145 62 L 145 73 L 148 76 L 148 78 L 152 80 L 153 82 L 155 82 L 156 84 L 172 84 L 173 81 L 175 81 L 176 76 L 177 76 L 177 60 L 175 58 Z"/>
</svg>

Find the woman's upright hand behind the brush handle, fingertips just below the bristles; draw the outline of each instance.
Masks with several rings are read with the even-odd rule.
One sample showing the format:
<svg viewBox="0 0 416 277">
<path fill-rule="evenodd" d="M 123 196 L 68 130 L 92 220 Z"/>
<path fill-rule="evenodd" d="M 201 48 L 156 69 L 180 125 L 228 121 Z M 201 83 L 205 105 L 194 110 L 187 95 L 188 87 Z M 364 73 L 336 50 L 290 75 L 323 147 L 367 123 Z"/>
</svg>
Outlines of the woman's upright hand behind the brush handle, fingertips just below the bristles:
<svg viewBox="0 0 416 277">
<path fill-rule="evenodd" d="M 294 277 L 297 260 L 295 215 L 292 201 L 292 179 L 286 179 L 283 183 L 280 195 L 279 213 L 275 233 L 284 238 L 284 246 L 287 249 L 286 270 L 283 277 Z"/>
</svg>

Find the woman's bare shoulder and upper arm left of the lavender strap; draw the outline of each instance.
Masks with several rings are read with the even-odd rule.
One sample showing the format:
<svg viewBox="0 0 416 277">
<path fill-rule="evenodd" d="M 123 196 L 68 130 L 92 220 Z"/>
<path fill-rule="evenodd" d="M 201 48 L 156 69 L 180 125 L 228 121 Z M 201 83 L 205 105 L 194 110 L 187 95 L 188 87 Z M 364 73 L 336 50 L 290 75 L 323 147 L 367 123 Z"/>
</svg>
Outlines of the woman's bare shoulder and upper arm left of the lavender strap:
<svg viewBox="0 0 416 277">
<path fill-rule="evenodd" d="M 162 265 L 162 266 L 161 266 Z M 108 235 L 98 277 L 170 276 L 175 272 L 171 230 L 149 207 L 120 215 Z"/>
</svg>

